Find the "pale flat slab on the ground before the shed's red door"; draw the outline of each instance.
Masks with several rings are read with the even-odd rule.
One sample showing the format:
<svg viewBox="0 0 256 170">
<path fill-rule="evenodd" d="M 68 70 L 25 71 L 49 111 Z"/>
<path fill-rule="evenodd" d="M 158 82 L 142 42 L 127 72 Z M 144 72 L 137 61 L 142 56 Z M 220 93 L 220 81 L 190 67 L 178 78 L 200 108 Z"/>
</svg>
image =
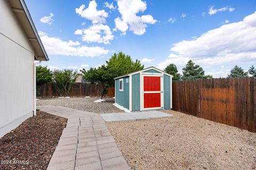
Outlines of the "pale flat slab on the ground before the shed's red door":
<svg viewBox="0 0 256 170">
<path fill-rule="evenodd" d="M 100 114 L 105 122 L 115 122 L 115 121 L 132 121 L 141 120 L 148 118 L 162 118 L 162 117 L 172 117 L 173 115 L 166 114 L 160 111 L 143 111 L 143 112 L 131 112 L 131 113 L 108 113 Z"/>
</svg>

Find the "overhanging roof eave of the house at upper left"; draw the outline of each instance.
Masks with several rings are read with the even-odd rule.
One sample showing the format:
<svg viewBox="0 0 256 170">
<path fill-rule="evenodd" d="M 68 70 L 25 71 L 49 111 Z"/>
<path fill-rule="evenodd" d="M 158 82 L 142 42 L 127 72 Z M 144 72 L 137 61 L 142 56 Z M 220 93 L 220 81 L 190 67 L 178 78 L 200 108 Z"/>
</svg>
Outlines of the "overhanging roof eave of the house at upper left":
<svg viewBox="0 0 256 170">
<path fill-rule="evenodd" d="M 49 57 L 44 49 L 43 43 L 38 35 L 34 22 L 29 14 L 24 0 L 8 0 L 13 12 L 15 13 L 21 27 L 26 33 L 30 44 L 34 47 L 35 60 L 48 61 Z"/>
</svg>

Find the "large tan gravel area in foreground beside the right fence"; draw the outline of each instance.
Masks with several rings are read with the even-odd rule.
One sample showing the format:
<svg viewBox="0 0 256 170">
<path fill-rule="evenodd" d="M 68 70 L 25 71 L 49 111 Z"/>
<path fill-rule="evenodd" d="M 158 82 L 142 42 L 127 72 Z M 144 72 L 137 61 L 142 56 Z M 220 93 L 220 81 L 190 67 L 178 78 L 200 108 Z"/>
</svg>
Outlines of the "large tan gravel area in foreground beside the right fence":
<svg viewBox="0 0 256 170">
<path fill-rule="evenodd" d="M 174 111 L 107 127 L 132 169 L 256 169 L 256 133 Z"/>
</svg>

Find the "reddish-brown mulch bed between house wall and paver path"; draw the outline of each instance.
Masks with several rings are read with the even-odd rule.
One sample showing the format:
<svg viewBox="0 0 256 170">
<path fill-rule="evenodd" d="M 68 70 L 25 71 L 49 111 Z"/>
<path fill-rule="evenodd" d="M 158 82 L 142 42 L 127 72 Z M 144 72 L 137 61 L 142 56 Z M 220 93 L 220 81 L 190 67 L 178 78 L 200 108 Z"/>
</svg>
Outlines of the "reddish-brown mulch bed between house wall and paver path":
<svg viewBox="0 0 256 170">
<path fill-rule="evenodd" d="M 0 169 L 46 169 L 67 119 L 37 111 L 0 139 Z"/>
</svg>

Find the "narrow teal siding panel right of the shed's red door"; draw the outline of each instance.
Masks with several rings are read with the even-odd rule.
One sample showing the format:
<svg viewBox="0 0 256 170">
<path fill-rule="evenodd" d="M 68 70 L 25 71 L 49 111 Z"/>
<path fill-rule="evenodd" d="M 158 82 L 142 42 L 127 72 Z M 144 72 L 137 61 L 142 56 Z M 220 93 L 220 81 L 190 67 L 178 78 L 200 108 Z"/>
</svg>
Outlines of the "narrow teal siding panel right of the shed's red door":
<svg viewBox="0 0 256 170">
<path fill-rule="evenodd" d="M 171 77 L 164 74 L 164 109 L 171 108 Z"/>
</svg>

